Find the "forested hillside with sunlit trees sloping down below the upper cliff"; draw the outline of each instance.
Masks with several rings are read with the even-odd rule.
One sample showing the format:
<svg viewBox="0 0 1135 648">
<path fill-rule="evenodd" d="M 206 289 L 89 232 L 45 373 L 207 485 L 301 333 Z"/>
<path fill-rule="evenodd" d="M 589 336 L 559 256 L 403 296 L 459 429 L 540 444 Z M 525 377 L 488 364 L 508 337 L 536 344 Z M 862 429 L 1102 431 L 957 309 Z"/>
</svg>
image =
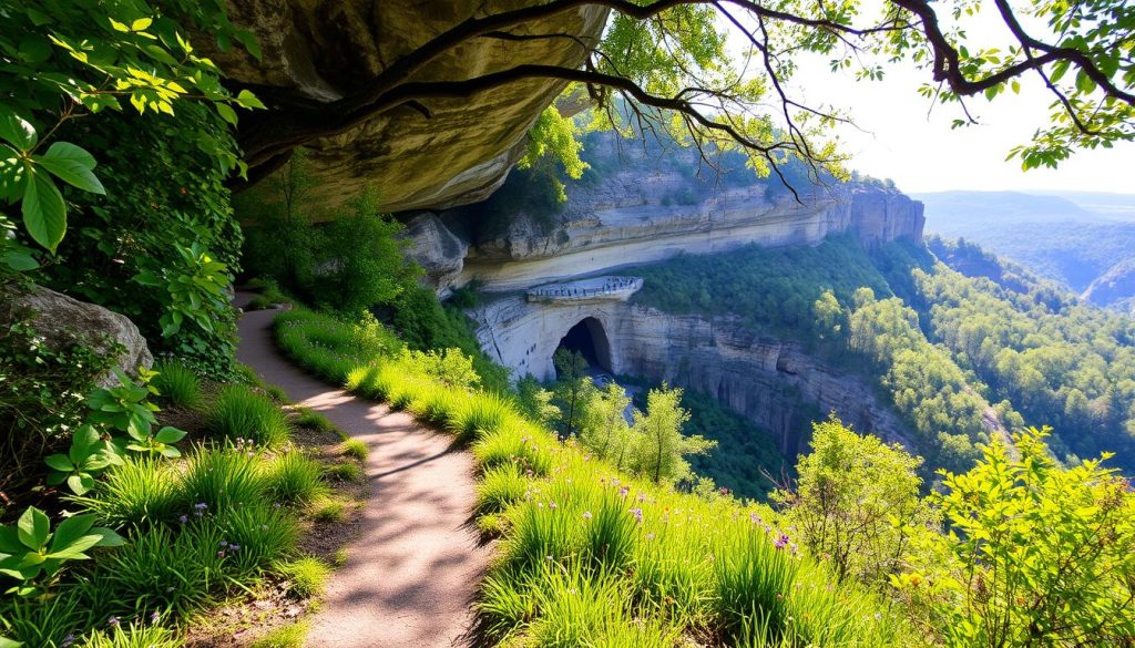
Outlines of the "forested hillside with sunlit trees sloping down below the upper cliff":
<svg viewBox="0 0 1135 648">
<path fill-rule="evenodd" d="M 976 246 L 932 243 L 947 262 L 920 246 L 868 253 L 847 239 L 684 256 L 638 269 L 636 298 L 739 315 L 867 377 L 928 468 L 964 469 L 977 444 L 1026 423 L 1053 427 L 1065 460 L 1111 451 L 1135 465 L 1135 322 Z"/>
</svg>

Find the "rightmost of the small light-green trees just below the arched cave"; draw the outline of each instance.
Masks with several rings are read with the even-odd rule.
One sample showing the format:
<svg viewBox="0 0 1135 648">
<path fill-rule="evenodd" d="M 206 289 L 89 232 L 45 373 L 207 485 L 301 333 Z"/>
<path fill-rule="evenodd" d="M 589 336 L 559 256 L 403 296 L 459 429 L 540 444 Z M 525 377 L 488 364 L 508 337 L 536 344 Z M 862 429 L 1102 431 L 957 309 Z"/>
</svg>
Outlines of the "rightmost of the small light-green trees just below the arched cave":
<svg viewBox="0 0 1135 648">
<path fill-rule="evenodd" d="M 682 390 L 663 384 L 647 394 L 646 413 L 634 412 L 632 436 L 636 444 L 636 472 L 655 483 L 689 477 L 686 456 L 705 454 L 717 445 L 701 435 L 682 436 L 690 413 L 682 409 Z"/>
</svg>

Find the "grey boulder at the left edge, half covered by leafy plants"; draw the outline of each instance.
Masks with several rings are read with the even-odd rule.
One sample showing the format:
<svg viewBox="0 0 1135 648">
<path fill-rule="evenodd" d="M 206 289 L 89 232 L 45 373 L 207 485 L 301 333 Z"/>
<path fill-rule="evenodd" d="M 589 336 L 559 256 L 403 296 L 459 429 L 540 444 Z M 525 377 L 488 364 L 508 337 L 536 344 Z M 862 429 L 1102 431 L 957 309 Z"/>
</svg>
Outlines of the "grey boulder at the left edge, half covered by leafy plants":
<svg viewBox="0 0 1135 648">
<path fill-rule="evenodd" d="M 115 354 L 115 363 L 131 373 L 153 364 L 145 338 L 129 318 L 41 286 L 26 292 L 0 288 L 0 323 L 14 320 L 30 325 L 50 348 L 83 345 L 100 355 Z M 107 372 L 95 384 L 116 385 L 117 378 Z"/>
</svg>

